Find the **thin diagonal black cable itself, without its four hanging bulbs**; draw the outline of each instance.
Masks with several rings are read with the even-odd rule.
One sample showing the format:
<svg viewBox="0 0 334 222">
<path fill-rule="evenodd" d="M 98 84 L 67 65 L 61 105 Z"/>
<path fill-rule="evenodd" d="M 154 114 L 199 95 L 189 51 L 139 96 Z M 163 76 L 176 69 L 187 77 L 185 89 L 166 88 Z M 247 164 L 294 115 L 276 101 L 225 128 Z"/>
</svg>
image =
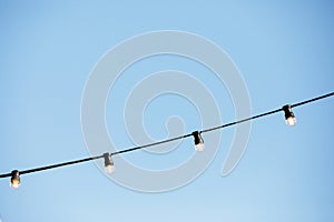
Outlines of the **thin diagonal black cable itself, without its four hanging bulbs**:
<svg viewBox="0 0 334 222">
<path fill-rule="evenodd" d="M 332 95 L 334 95 L 334 92 L 331 92 L 331 93 L 327 93 L 327 94 L 324 94 L 324 95 L 321 95 L 321 97 L 317 97 L 317 98 L 313 98 L 313 99 L 310 99 L 310 100 L 306 100 L 306 101 L 303 101 L 303 102 L 292 104 L 291 108 L 307 104 L 307 103 L 311 103 L 311 102 L 314 102 L 314 101 L 317 101 L 317 100 L 322 100 L 322 99 L 325 99 L 325 98 L 328 98 L 328 97 L 332 97 Z M 276 109 L 276 110 L 273 110 L 273 111 L 264 112 L 262 114 L 253 115 L 253 117 L 249 117 L 249 118 L 246 118 L 246 119 L 243 119 L 243 120 L 238 120 L 238 121 L 235 121 L 235 122 L 229 122 L 229 123 L 218 125 L 218 127 L 215 127 L 215 128 L 205 129 L 205 130 L 202 130 L 199 132 L 200 133 L 206 133 L 206 132 L 219 130 L 219 129 L 223 129 L 223 128 L 227 128 L 227 127 L 230 127 L 230 125 L 239 124 L 239 123 L 243 123 L 243 122 L 246 122 L 246 121 L 250 121 L 250 120 L 263 118 L 263 117 L 266 117 L 266 115 L 269 115 L 269 114 L 274 114 L 276 112 L 281 112 L 282 110 L 283 109 L 279 108 L 279 109 Z M 193 135 L 191 133 L 185 134 L 185 135 L 179 135 L 179 137 L 176 137 L 176 138 L 170 138 L 170 139 L 167 139 L 167 140 L 161 140 L 161 141 L 145 144 L 145 145 L 139 145 L 139 147 L 129 148 L 129 149 L 126 149 L 126 150 L 116 151 L 116 152 L 109 153 L 109 155 L 111 157 L 111 155 L 117 155 L 117 154 L 121 154 L 121 153 L 126 153 L 126 152 L 131 152 L 131 151 L 135 151 L 135 150 L 140 150 L 140 149 L 144 149 L 144 148 L 154 147 L 154 145 L 158 145 L 158 144 L 180 140 L 180 139 L 188 138 L 188 137 L 191 137 L 191 135 Z M 69 161 L 69 162 L 63 162 L 63 163 L 46 165 L 46 167 L 41 167 L 41 168 L 23 170 L 23 171 L 20 171 L 20 174 L 28 174 L 28 173 L 50 170 L 50 169 L 53 169 L 53 168 L 61 168 L 61 167 L 65 167 L 65 165 L 72 165 L 72 164 L 77 164 L 77 163 L 81 163 L 81 162 L 88 162 L 88 161 L 100 159 L 100 158 L 104 158 L 104 155 L 96 155 L 96 157 L 85 158 L 85 159 Z M 0 178 L 9 178 L 9 176 L 11 176 L 11 173 L 0 174 Z"/>
</svg>

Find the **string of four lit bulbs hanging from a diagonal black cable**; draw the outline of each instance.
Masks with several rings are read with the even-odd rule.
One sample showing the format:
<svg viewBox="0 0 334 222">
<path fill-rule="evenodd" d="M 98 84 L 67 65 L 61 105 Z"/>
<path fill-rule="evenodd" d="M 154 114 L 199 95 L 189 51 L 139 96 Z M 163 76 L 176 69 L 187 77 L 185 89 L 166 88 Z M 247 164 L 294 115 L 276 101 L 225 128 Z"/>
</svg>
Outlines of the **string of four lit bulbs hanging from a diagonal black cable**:
<svg viewBox="0 0 334 222">
<path fill-rule="evenodd" d="M 144 148 L 154 147 L 154 145 L 158 145 L 158 144 L 163 144 L 163 143 L 167 143 L 167 142 L 171 142 L 171 141 L 176 141 L 176 140 L 181 140 L 181 139 L 188 138 L 188 137 L 194 137 L 195 150 L 196 151 L 203 151 L 204 150 L 204 141 L 203 141 L 203 138 L 200 135 L 202 133 L 207 133 L 207 132 L 210 132 L 210 131 L 219 130 L 219 129 L 223 129 L 223 128 L 239 124 L 239 123 L 243 123 L 243 122 L 246 122 L 246 121 L 255 120 L 255 119 L 263 118 L 263 117 L 274 114 L 274 113 L 277 113 L 277 112 L 282 112 L 282 111 L 284 111 L 286 123 L 288 125 L 294 125 L 296 123 L 296 118 L 295 118 L 294 113 L 292 112 L 292 108 L 299 107 L 299 105 L 303 105 L 303 104 L 307 104 L 307 103 L 311 103 L 311 102 L 314 102 L 314 101 L 317 101 L 317 100 L 322 100 L 322 99 L 325 99 L 325 98 L 328 98 L 328 97 L 332 97 L 332 95 L 334 95 L 334 92 L 331 92 L 331 93 L 327 93 L 327 94 L 324 94 L 324 95 L 321 95 L 321 97 L 316 97 L 316 98 L 313 98 L 313 99 L 310 99 L 310 100 L 305 100 L 305 101 L 299 102 L 299 103 L 295 103 L 295 104 L 291 104 L 291 105 L 287 104 L 287 105 L 284 105 L 281 109 L 272 110 L 272 111 L 268 111 L 268 112 L 265 112 L 265 113 L 262 113 L 262 114 L 257 114 L 257 115 L 253 115 L 253 117 L 249 117 L 249 118 L 246 118 L 246 119 L 243 119 L 243 120 L 238 120 L 238 121 L 235 121 L 235 122 L 229 122 L 229 123 L 226 123 L 226 124 L 223 124 L 223 125 L 218 125 L 218 127 L 210 128 L 210 129 L 205 129 L 205 130 L 202 130 L 202 131 L 194 131 L 193 133 L 189 133 L 189 134 L 184 134 L 184 135 L 179 135 L 179 137 L 176 137 L 176 138 L 170 138 L 170 139 L 166 139 L 166 140 L 161 140 L 161 141 L 158 141 L 158 142 L 154 142 L 154 143 L 149 143 L 149 144 L 140 145 L 140 147 L 135 147 L 135 148 L 130 148 L 130 149 L 126 149 L 126 150 L 120 150 L 120 151 L 116 151 L 114 153 L 104 153 L 101 155 L 96 155 L 96 157 L 90 157 L 90 158 L 85 158 L 85 159 L 80 159 L 80 160 L 62 162 L 62 163 L 57 163 L 57 164 L 52 164 L 52 165 L 46 165 L 46 167 L 35 168 L 35 169 L 29 169 L 29 170 L 23 170 L 23 171 L 13 170 L 10 173 L 0 174 L 0 178 L 11 176 L 11 179 L 10 179 L 11 186 L 13 189 L 18 189 L 20 186 L 20 182 L 21 182 L 20 181 L 20 175 L 22 175 L 22 174 L 50 170 L 50 169 L 55 169 L 55 168 L 61 168 L 61 167 L 65 167 L 65 165 L 72 165 L 72 164 L 77 164 L 77 163 L 81 163 L 81 162 L 88 162 L 88 161 L 92 161 L 92 160 L 97 160 L 97 159 L 101 159 L 101 158 L 105 159 L 106 172 L 112 173 L 115 171 L 114 161 L 111 160 L 112 155 L 117 155 L 117 154 L 121 154 L 121 153 L 126 153 L 126 152 L 131 152 L 131 151 L 135 151 L 135 150 L 140 150 L 140 149 L 144 149 Z"/>
</svg>

